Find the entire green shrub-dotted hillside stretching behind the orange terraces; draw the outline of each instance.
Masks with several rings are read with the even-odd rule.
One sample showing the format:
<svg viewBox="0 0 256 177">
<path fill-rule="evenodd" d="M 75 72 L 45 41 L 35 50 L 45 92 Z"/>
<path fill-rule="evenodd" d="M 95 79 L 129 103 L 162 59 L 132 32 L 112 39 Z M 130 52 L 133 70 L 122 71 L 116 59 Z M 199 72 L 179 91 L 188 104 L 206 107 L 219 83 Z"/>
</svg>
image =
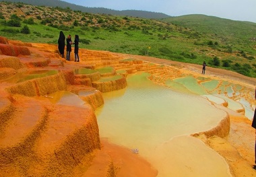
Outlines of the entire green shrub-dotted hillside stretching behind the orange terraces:
<svg viewBox="0 0 256 177">
<path fill-rule="evenodd" d="M 78 34 L 82 48 L 134 55 L 148 53 L 152 57 L 200 65 L 206 61 L 208 66 L 256 77 L 253 23 L 205 15 L 158 21 L 22 3 L 2 2 L 0 8 L 1 36 L 13 40 L 57 44 L 63 30 L 65 36 Z M 232 29 L 228 27 L 231 24 Z"/>
</svg>

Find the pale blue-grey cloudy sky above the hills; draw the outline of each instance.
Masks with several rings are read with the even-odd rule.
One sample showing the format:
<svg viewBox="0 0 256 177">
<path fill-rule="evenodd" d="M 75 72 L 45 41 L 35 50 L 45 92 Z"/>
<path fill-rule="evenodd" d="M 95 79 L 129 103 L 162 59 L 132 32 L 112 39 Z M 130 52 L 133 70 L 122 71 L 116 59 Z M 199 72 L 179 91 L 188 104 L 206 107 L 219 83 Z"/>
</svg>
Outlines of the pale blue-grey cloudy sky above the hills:
<svg viewBox="0 0 256 177">
<path fill-rule="evenodd" d="M 256 0 L 63 0 L 85 7 L 144 10 L 171 16 L 204 14 L 256 23 Z"/>
</svg>

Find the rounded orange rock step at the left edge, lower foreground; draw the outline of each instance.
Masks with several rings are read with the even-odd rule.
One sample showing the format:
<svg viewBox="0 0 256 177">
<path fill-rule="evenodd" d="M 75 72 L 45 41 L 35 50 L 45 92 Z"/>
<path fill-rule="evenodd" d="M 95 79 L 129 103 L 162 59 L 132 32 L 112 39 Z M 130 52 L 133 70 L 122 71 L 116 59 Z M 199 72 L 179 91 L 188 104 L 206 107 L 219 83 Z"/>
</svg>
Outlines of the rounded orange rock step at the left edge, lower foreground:
<svg viewBox="0 0 256 177">
<path fill-rule="evenodd" d="M 20 98 L 14 97 L 13 114 L 1 130 L 1 164 L 9 164 L 29 153 L 46 122 L 46 110 L 37 100 Z"/>
</svg>

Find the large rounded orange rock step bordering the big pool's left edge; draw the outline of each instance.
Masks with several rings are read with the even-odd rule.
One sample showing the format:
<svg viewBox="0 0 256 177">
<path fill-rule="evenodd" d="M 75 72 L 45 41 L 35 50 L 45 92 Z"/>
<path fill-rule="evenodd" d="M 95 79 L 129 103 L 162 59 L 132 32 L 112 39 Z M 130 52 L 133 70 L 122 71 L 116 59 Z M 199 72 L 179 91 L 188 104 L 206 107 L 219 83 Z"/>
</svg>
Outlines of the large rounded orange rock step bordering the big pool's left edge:
<svg viewBox="0 0 256 177">
<path fill-rule="evenodd" d="M 46 128 L 28 169 L 34 176 L 71 176 L 86 155 L 100 149 L 98 124 L 90 106 L 56 104 Z"/>
</svg>

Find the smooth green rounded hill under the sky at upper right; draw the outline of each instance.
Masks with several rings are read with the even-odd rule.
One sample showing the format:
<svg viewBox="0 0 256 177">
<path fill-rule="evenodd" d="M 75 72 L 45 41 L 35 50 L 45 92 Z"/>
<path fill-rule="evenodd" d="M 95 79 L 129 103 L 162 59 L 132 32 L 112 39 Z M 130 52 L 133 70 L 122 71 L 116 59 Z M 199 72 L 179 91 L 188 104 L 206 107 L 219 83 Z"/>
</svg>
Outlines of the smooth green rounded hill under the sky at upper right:
<svg viewBox="0 0 256 177">
<path fill-rule="evenodd" d="M 208 15 L 183 15 L 163 20 L 185 28 L 191 28 L 203 34 L 212 34 L 220 38 L 232 36 L 233 40 L 249 40 L 256 37 L 256 24 L 223 19 Z M 231 37 L 230 37 L 231 38 Z"/>
</svg>

